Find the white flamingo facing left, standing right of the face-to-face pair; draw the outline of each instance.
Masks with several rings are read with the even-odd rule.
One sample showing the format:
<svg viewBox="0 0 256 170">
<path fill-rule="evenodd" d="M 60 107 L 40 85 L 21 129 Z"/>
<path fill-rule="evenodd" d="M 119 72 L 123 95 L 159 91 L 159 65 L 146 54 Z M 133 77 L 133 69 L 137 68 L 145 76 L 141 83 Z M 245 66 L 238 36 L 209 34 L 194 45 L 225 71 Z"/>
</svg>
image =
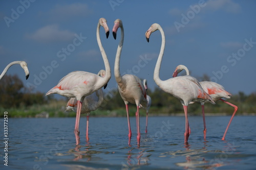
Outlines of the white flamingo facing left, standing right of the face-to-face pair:
<svg viewBox="0 0 256 170">
<path fill-rule="evenodd" d="M 153 25 L 146 31 L 145 36 L 147 42 L 150 40 L 150 35 L 155 32 L 156 30 L 159 30 L 162 36 L 162 44 L 160 48 L 160 53 L 157 59 L 156 67 L 154 70 L 154 81 L 156 84 L 165 92 L 174 95 L 176 98 L 178 98 L 183 105 L 184 113 L 185 113 L 185 133 L 184 133 L 184 142 L 187 143 L 189 134 L 190 134 L 190 128 L 188 124 L 188 118 L 187 118 L 187 106 L 189 102 L 193 101 L 209 101 L 212 104 L 215 104 L 214 101 L 212 101 L 209 94 L 207 94 L 196 78 L 191 76 L 180 76 L 175 78 L 170 78 L 168 80 L 161 80 L 159 78 L 159 71 L 161 67 L 162 57 L 164 53 L 164 47 L 165 47 L 165 36 L 163 29 L 158 23 L 153 23 Z"/>
</svg>

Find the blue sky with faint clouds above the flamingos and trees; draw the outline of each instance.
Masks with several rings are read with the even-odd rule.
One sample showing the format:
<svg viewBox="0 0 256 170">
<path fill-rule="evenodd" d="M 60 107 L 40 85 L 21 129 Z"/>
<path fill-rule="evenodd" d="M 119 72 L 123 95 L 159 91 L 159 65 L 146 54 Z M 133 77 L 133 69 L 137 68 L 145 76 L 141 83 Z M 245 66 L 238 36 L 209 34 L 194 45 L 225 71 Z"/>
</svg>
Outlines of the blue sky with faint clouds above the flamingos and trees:
<svg viewBox="0 0 256 170">
<path fill-rule="evenodd" d="M 96 41 L 100 17 L 112 31 L 120 18 L 124 44 L 121 73 L 130 72 L 157 85 L 153 72 L 161 45 L 157 31 L 146 42 L 145 32 L 159 23 L 166 38 L 160 78 L 172 77 L 179 64 L 191 76 L 207 74 L 230 93 L 256 91 L 255 1 L 1 1 L 0 68 L 15 60 L 28 63 L 30 77 L 15 65 L 8 74 L 18 74 L 33 91 L 47 92 L 74 70 L 97 72 L 104 69 Z M 104 92 L 116 88 L 114 61 L 117 40 L 100 30 L 108 55 L 112 78 Z M 80 38 L 77 38 L 80 37 Z M 74 45 L 75 44 L 75 45 Z M 66 49 L 66 51 L 65 51 Z M 61 57 L 60 57 L 61 56 Z"/>
</svg>

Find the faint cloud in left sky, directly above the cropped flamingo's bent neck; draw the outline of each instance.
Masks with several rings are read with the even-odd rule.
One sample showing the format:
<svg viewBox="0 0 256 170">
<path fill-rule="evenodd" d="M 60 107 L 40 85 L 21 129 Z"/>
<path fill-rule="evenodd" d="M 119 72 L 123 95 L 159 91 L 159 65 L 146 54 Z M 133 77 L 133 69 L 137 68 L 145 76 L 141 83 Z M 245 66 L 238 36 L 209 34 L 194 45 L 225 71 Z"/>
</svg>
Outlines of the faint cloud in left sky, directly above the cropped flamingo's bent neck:
<svg viewBox="0 0 256 170">
<path fill-rule="evenodd" d="M 74 35 L 75 33 L 68 30 L 59 30 L 58 25 L 49 25 L 40 28 L 35 33 L 26 35 L 26 37 L 38 42 L 56 42 L 72 40 Z"/>
</svg>

